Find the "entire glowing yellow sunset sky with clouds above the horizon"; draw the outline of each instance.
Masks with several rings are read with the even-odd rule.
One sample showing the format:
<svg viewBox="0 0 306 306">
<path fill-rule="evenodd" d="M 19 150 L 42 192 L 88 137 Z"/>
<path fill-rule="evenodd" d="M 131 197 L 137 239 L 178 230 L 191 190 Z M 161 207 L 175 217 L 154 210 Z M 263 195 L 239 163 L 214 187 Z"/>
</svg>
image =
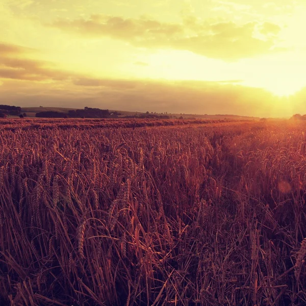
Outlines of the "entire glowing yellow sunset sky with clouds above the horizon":
<svg viewBox="0 0 306 306">
<path fill-rule="evenodd" d="M 304 0 L 0 0 L 0 104 L 306 114 Z"/>
</svg>

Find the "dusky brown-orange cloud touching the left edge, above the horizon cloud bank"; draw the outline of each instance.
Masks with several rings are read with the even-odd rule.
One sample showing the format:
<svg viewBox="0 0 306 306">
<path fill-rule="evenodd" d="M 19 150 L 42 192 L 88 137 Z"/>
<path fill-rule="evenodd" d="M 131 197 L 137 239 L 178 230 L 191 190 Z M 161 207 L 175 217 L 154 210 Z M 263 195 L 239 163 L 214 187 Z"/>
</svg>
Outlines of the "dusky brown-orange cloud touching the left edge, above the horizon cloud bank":
<svg viewBox="0 0 306 306">
<path fill-rule="evenodd" d="M 57 69 L 55 64 L 25 57 L 31 49 L 0 44 L 0 78 L 28 81 L 67 80 L 73 73 Z"/>
</svg>

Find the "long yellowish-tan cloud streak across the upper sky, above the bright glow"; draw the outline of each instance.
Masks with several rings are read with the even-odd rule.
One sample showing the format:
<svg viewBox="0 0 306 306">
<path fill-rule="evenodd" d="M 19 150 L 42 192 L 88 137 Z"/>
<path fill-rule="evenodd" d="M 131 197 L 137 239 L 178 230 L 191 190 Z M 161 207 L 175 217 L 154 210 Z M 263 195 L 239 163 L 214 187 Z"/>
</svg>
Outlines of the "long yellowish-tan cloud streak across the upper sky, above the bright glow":
<svg viewBox="0 0 306 306">
<path fill-rule="evenodd" d="M 58 19 L 49 25 L 86 38 L 111 37 L 138 47 L 189 50 L 225 61 L 277 52 L 275 37 L 269 34 L 279 32 L 277 24 L 266 22 L 261 33 L 264 38 L 260 39 L 254 36 L 259 22 L 209 22 L 192 16 L 181 23 L 170 23 L 99 14 L 89 19 Z"/>
</svg>

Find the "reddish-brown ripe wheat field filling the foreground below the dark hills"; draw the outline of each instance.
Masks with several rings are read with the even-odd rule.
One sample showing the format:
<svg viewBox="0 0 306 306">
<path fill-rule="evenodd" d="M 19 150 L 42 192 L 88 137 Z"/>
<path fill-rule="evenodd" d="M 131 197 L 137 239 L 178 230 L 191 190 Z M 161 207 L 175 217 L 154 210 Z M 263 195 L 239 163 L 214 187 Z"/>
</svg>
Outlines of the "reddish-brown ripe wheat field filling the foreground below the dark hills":
<svg viewBox="0 0 306 306">
<path fill-rule="evenodd" d="M 305 123 L 20 120 L 0 127 L 1 306 L 306 304 Z"/>
</svg>

